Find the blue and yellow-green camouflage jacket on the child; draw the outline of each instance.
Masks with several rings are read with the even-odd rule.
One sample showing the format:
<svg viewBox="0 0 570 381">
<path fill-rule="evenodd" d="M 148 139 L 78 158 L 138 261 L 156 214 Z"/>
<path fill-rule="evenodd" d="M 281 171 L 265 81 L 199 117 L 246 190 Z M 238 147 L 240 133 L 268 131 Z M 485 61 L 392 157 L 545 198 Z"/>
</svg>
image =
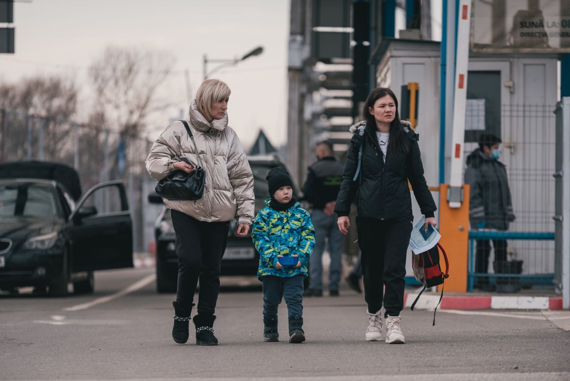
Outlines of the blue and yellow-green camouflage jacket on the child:
<svg viewBox="0 0 570 381">
<path fill-rule="evenodd" d="M 259 252 L 259 268 L 257 276 L 276 277 L 307 276 L 307 264 L 315 246 L 315 229 L 307 210 L 301 208 L 300 202 L 287 210 L 279 212 L 269 206 L 271 198 L 265 200 L 265 208 L 259 210 L 251 237 L 255 249 Z M 277 256 L 299 255 L 300 267 L 284 266 L 276 269 Z"/>
</svg>

